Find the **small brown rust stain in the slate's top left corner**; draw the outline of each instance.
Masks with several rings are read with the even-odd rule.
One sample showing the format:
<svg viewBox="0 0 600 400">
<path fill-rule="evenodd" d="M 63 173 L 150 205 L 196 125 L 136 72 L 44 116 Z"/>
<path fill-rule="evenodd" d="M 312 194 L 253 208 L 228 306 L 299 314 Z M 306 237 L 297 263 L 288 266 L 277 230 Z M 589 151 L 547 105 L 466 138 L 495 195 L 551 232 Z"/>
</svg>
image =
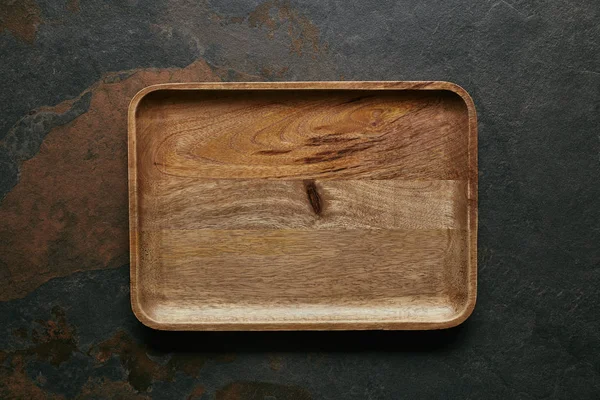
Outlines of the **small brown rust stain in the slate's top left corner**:
<svg viewBox="0 0 600 400">
<path fill-rule="evenodd" d="M 0 6 L 0 32 L 6 29 L 15 37 L 33 43 L 41 23 L 40 7 L 35 0 L 8 0 Z"/>
</svg>

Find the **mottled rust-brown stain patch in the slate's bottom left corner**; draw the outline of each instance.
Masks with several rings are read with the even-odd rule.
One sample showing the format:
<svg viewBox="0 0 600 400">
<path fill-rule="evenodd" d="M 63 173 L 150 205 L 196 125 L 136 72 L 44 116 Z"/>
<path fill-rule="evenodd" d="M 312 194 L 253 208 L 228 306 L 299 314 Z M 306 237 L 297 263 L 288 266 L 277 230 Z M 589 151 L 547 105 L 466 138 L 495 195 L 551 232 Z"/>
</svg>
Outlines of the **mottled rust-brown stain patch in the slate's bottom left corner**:
<svg viewBox="0 0 600 400">
<path fill-rule="evenodd" d="M 12 329 L 17 339 L 15 348 L 0 350 L 0 399 L 62 399 L 48 388 L 56 383 L 54 374 L 69 376 L 69 371 L 86 365 L 114 369 L 114 361 L 121 364 L 122 380 L 89 376 L 79 383 L 77 398 L 147 399 L 155 382 L 174 383 L 185 377 L 183 380 L 194 383 L 188 389 L 188 398 L 198 399 L 205 389 L 195 381 L 206 361 L 219 364 L 234 359 L 221 353 L 161 352 L 123 330 L 81 349 L 77 330 L 59 306 L 52 308 L 50 318 L 23 323 L 31 326 Z M 39 365 L 44 368 L 36 372 Z"/>
</svg>

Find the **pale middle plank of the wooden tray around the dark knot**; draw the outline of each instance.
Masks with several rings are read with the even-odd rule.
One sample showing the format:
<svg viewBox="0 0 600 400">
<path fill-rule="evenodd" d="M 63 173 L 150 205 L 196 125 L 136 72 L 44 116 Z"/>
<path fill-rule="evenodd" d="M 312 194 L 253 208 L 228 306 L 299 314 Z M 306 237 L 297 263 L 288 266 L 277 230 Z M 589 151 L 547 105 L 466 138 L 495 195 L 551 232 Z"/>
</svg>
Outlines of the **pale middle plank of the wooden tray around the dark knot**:
<svg viewBox="0 0 600 400">
<path fill-rule="evenodd" d="M 141 229 L 458 229 L 465 181 L 317 181 L 319 213 L 302 181 L 171 179 L 148 195 Z M 152 197 L 152 199 L 151 199 Z"/>
</svg>

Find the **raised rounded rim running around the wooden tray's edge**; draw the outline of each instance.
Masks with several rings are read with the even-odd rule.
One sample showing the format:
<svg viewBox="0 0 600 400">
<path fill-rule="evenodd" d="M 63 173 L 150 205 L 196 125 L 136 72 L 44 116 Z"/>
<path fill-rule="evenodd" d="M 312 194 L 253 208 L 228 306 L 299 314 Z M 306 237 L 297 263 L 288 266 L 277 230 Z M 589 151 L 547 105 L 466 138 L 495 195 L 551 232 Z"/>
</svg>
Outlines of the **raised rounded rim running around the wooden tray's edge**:
<svg viewBox="0 0 600 400">
<path fill-rule="evenodd" d="M 303 321 L 303 322 L 231 322 L 207 323 L 162 322 L 150 317 L 138 297 L 138 198 L 136 159 L 136 113 L 142 99 L 161 90 L 442 90 L 457 94 L 468 113 L 468 265 L 467 301 L 465 307 L 444 321 Z M 132 98 L 128 108 L 127 154 L 129 197 L 129 247 L 131 308 L 145 326 L 157 330 L 178 331 L 294 331 L 294 330 L 434 330 L 452 328 L 463 323 L 473 312 L 477 301 L 477 214 L 478 214 L 478 145 L 477 113 L 469 93 L 461 86 L 446 81 L 295 81 L 295 82 L 190 82 L 161 83 L 147 86 Z"/>
</svg>

